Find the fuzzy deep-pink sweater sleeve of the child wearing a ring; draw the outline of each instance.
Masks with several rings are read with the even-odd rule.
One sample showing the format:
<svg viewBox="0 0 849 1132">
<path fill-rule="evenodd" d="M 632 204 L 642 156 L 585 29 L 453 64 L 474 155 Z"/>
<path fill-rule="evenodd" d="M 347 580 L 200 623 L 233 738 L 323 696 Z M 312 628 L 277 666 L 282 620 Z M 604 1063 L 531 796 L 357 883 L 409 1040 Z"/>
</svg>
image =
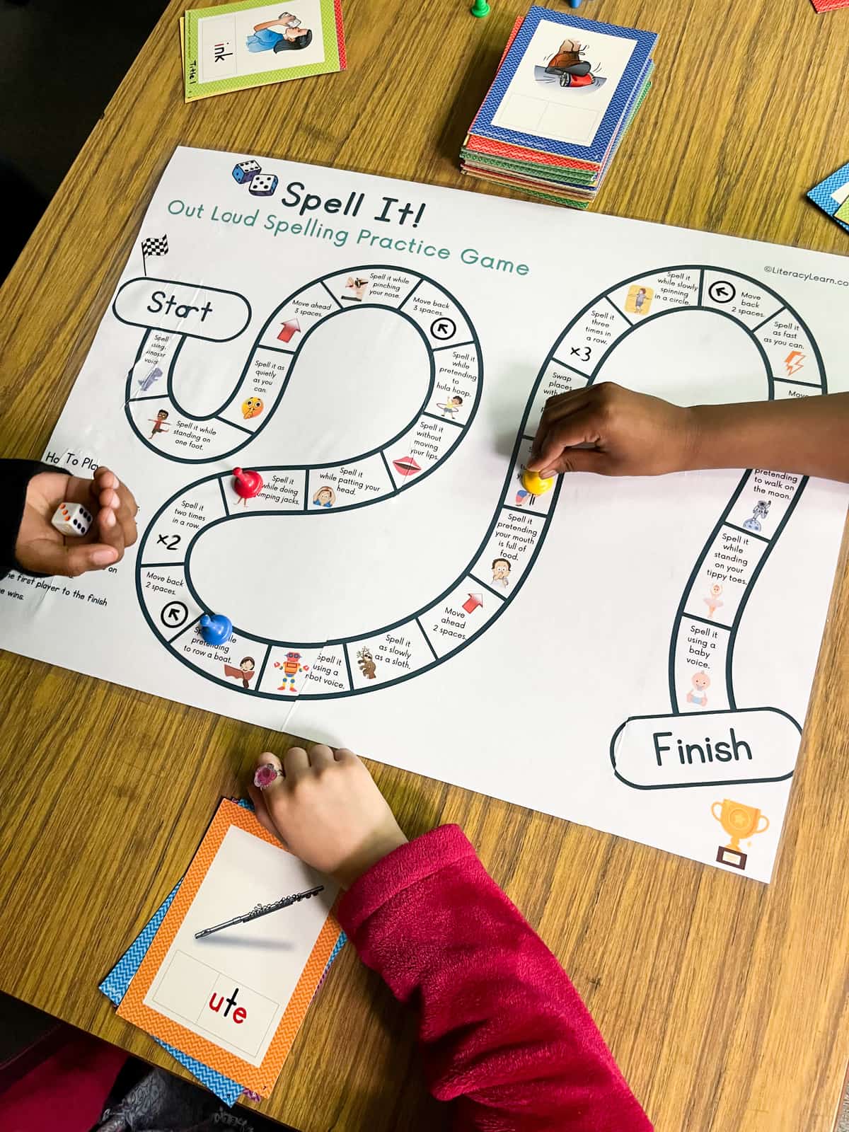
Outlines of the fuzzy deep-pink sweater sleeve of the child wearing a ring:
<svg viewBox="0 0 849 1132">
<path fill-rule="evenodd" d="M 651 1132 L 566 972 L 456 825 L 343 897 L 362 961 L 421 1012 L 431 1092 L 462 1132 Z"/>
</svg>

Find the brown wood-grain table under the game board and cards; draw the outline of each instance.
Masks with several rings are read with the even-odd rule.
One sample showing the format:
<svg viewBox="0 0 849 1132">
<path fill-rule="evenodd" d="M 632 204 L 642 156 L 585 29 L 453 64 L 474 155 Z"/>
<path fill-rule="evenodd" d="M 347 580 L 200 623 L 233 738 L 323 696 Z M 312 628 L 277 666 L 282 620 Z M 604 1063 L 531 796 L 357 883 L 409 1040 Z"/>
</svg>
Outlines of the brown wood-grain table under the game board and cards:
<svg viewBox="0 0 849 1132">
<path fill-rule="evenodd" d="M 0 452 L 43 451 L 178 143 L 497 191 L 461 179 L 457 151 L 521 6 L 492 0 L 484 20 L 468 0 L 344 7 L 346 75 L 186 106 L 183 3 L 169 5 L 2 291 Z M 846 250 L 803 195 L 849 156 L 849 11 L 599 0 L 581 15 L 660 33 L 654 89 L 601 208 Z M 464 826 L 659 1132 L 832 1127 L 849 1062 L 848 599 L 841 568 L 769 887 L 374 767 L 410 834 Z M 180 876 L 218 796 L 281 737 L 18 657 L 0 666 L 0 989 L 173 1069 L 96 985 Z M 438 1129 L 413 1037 L 348 949 L 264 1108 L 302 1132 Z"/>
</svg>

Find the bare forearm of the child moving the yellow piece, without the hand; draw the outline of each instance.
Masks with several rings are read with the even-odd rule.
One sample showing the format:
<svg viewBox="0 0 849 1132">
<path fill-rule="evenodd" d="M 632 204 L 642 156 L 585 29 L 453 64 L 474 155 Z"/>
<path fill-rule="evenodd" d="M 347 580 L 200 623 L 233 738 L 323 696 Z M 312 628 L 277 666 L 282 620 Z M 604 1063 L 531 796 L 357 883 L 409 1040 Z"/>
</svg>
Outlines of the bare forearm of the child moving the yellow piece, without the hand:
<svg viewBox="0 0 849 1132">
<path fill-rule="evenodd" d="M 849 393 L 694 405 L 681 470 L 765 468 L 849 482 Z"/>
</svg>

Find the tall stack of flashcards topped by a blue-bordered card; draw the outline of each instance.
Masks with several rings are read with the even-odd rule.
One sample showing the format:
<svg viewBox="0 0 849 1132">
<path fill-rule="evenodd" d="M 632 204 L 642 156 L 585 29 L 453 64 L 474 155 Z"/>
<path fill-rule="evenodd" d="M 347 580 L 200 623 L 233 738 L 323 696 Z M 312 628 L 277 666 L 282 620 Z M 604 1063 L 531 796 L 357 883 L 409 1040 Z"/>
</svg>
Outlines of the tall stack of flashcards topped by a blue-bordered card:
<svg viewBox="0 0 849 1132">
<path fill-rule="evenodd" d="M 463 144 L 463 172 L 586 208 L 651 86 L 657 38 L 531 8 Z"/>
</svg>

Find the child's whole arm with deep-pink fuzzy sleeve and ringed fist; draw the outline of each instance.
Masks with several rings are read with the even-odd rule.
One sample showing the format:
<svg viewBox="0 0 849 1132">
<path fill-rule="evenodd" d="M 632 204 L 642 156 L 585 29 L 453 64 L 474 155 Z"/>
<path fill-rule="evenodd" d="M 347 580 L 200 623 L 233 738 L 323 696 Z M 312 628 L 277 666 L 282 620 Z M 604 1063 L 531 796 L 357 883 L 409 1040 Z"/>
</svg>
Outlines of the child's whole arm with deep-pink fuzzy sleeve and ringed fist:
<svg viewBox="0 0 849 1132">
<path fill-rule="evenodd" d="M 651 1132 L 566 972 L 456 825 L 408 843 L 345 748 L 259 756 L 259 822 L 350 885 L 340 924 L 420 1010 L 430 1091 L 454 1132 Z"/>
</svg>

